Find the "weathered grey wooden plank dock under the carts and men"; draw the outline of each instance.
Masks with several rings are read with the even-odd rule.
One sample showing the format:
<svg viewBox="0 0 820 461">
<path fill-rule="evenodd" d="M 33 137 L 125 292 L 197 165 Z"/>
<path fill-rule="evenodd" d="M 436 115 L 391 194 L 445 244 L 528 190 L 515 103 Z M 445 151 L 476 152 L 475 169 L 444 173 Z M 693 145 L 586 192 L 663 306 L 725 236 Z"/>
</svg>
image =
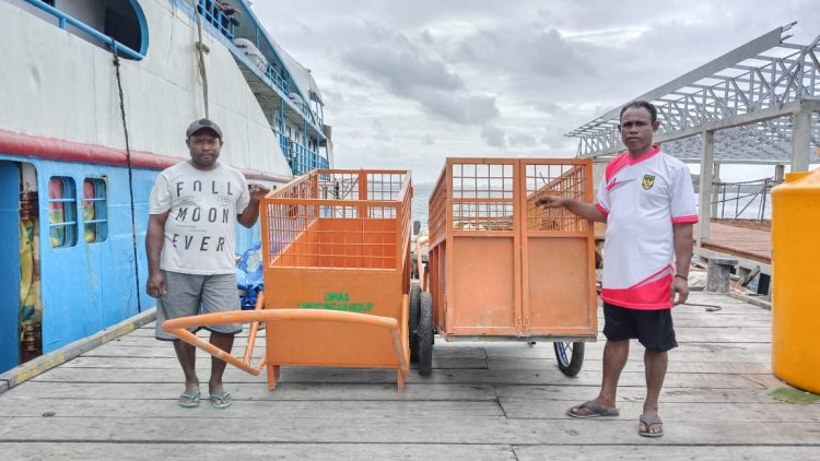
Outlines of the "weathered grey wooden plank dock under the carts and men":
<svg viewBox="0 0 820 461">
<path fill-rule="evenodd" d="M 595 397 L 602 336 L 575 378 L 550 343 L 445 343 L 432 376 L 283 367 L 276 391 L 229 366 L 227 410 L 181 409 L 181 371 L 153 323 L 0 394 L 2 459 L 817 459 L 820 403 L 769 397 L 771 311 L 728 295 L 694 292 L 675 321 L 660 414 L 666 435 L 640 437 L 640 346 L 621 377 L 620 417 L 574 419 Z M 717 305 L 719 310 L 702 305 Z M 601 323 L 599 321 L 599 323 Z M 242 352 L 246 338 L 237 338 Z M 198 353 L 199 376 L 209 360 Z M 207 387 L 204 387 L 207 390 Z"/>
</svg>

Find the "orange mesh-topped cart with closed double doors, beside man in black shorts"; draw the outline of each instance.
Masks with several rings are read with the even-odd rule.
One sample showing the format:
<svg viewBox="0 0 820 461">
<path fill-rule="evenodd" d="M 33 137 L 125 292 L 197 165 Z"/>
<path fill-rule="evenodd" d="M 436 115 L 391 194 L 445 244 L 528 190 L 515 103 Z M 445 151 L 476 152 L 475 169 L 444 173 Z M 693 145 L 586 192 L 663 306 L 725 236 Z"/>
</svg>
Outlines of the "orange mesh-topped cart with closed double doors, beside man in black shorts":
<svg viewBox="0 0 820 461">
<path fill-rule="evenodd" d="M 594 228 L 536 206 L 541 196 L 591 201 L 591 162 L 447 158 L 429 202 L 429 291 L 413 284 L 410 294 L 422 375 L 436 331 L 446 341 L 550 341 L 564 374 L 581 370 L 584 342 L 598 332 Z"/>
</svg>

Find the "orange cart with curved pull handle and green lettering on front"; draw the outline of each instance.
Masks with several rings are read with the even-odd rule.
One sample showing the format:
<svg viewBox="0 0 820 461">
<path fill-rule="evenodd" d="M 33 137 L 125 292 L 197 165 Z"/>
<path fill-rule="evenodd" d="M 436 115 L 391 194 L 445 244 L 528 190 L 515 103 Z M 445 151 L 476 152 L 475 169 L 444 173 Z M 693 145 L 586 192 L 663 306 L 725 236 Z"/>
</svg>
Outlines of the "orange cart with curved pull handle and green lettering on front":
<svg viewBox="0 0 820 461">
<path fill-rule="evenodd" d="M 411 199 L 407 170 L 317 169 L 270 192 L 260 204 L 262 300 L 255 311 L 204 319 L 255 322 L 244 359 L 219 355 L 180 330 L 204 324 L 208 316 L 168 321 L 165 328 L 254 375 L 267 367 L 270 389 L 282 365 L 297 365 L 393 368 L 403 390 Z M 254 367 L 260 321 L 266 351 Z"/>
</svg>

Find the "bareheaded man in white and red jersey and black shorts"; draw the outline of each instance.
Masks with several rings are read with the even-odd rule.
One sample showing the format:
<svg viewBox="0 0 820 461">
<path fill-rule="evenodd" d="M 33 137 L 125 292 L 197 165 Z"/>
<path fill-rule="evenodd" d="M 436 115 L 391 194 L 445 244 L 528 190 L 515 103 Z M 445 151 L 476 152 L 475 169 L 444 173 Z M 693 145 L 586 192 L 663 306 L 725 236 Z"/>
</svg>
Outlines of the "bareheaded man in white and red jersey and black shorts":
<svg viewBox="0 0 820 461">
<path fill-rule="evenodd" d="M 626 152 L 607 165 L 595 203 L 543 197 L 544 208 L 564 206 L 581 217 L 607 223 L 604 244 L 604 378 L 598 397 L 573 406 L 573 417 L 618 416 L 618 380 L 629 358 L 630 339 L 645 347 L 646 399 L 639 434 L 664 435 L 658 395 L 667 351 L 678 345 L 671 307 L 689 296 L 692 225 L 698 222 L 689 168 L 652 143 L 657 109 L 635 101 L 621 109 Z"/>
</svg>

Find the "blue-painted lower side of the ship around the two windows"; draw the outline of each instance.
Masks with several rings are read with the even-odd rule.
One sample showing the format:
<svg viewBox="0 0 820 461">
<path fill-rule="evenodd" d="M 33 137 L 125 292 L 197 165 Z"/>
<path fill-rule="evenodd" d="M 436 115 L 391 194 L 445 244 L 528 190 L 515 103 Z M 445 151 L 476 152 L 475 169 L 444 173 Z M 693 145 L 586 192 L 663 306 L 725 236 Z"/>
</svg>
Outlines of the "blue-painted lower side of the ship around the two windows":
<svg viewBox="0 0 820 461">
<path fill-rule="evenodd" d="M 20 356 L 20 165 L 36 170 L 38 191 L 37 230 L 39 233 L 39 274 L 42 306 L 42 353 L 46 354 L 73 341 L 92 335 L 140 311 L 155 306 L 144 291 L 148 276 L 145 228 L 148 200 L 157 170 L 132 170 L 133 222 L 128 168 L 121 166 L 67 163 L 43 158 L 21 158 L 0 152 L 0 373 L 19 365 Z M 54 248 L 49 240 L 48 188 L 52 177 L 72 178 L 75 185 L 86 178 L 102 178 L 107 185 L 107 237 L 87 243 L 83 238 L 82 197 L 73 202 L 79 216 L 79 238 L 73 246 Z M 16 180 L 13 180 L 17 178 Z M 34 185 L 27 185 L 33 189 Z M 81 189 L 80 189 L 81 196 Z M 259 225 L 251 229 L 237 226 L 237 248 L 259 241 Z M 137 264 L 134 265 L 134 245 Z"/>
</svg>

